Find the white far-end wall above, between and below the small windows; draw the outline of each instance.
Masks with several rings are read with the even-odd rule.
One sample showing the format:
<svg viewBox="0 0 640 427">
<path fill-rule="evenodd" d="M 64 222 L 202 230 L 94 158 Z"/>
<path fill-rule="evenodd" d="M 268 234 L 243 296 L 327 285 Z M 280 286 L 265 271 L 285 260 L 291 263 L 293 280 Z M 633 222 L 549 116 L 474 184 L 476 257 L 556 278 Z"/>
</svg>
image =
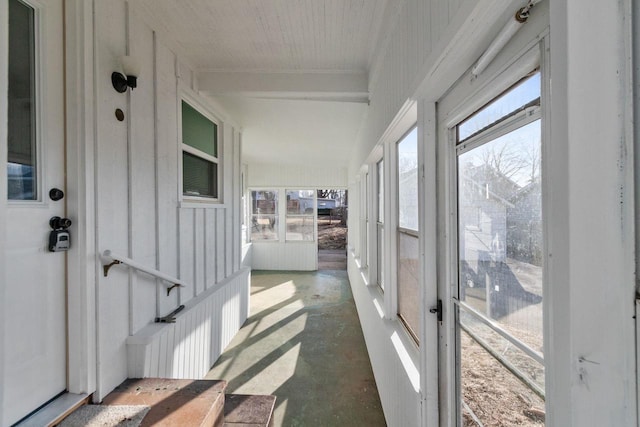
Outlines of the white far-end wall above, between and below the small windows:
<svg viewBox="0 0 640 427">
<path fill-rule="evenodd" d="M 286 209 L 286 190 L 346 189 L 344 167 L 249 163 L 249 189 L 280 191 L 278 209 Z M 251 197 L 248 194 L 248 197 Z M 248 204 L 250 206 L 250 202 Z M 249 224 L 251 221 L 249 221 Z M 318 268 L 318 242 L 285 242 L 286 224 L 279 224 L 280 240 L 251 243 L 251 267 L 255 270 L 313 271 Z"/>
</svg>

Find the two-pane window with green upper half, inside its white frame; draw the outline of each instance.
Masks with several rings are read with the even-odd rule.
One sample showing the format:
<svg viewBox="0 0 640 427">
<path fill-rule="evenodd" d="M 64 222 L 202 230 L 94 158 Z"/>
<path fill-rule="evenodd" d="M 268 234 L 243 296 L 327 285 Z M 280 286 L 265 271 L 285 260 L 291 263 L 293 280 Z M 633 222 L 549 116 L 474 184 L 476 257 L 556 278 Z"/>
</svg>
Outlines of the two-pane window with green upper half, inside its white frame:
<svg viewBox="0 0 640 427">
<path fill-rule="evenodd" d="M 218 125 L 182 101 L 182 193 L 218 199 Z"/>
</svg>

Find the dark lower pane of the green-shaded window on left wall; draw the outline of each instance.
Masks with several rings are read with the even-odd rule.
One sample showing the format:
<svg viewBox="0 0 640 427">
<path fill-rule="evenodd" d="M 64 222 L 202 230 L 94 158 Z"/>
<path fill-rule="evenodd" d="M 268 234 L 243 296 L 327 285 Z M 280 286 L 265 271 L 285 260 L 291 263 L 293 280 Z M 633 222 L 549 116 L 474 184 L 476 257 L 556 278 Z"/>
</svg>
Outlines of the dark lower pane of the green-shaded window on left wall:
<svg viewBox="0 0 640 427">
<path fill-rule="evenodd" d="M 182 187 L 187 196 L 218 197 L 218 165 L 182 152 Z"/>
</svg>

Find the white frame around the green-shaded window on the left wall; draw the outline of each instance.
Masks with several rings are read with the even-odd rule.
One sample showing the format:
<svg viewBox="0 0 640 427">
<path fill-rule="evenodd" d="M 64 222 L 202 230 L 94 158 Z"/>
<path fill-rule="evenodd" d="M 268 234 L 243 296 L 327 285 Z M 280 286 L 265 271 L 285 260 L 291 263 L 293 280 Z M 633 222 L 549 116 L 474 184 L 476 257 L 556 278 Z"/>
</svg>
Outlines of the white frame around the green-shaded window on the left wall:
<svg viewBox="0 0 640 427">
<path fill-rule="evenodd" d="M 182 104 L 186 103 L 189 107 L 193 108 L 196 112 L 200 113 L 207 120 L 211 121 L 216 128 L 216 156 L 205 153 L 191 145 L 185 144 L 183 141 L 183 122 L 182 122 Z M 189 204 L 193 204 L 197 207 L 224 207 L 224 172 L 223 172 L 223 159 L 224 159 L 224 122 L 203 102 L 201 102 L 197 95 L 188 88 L 181 88 L 179 91 L 177 102 L 177 114 L 178 114 L 178 202 L 181 207 L 188 207 Z M 188 153 L 201 160 L 213 163 L 216 165 L 216 197 L 195 196 L 184 193 L 184 153 Z M 187 206 L 185 206 L 187 205 Z"/>
</svg>

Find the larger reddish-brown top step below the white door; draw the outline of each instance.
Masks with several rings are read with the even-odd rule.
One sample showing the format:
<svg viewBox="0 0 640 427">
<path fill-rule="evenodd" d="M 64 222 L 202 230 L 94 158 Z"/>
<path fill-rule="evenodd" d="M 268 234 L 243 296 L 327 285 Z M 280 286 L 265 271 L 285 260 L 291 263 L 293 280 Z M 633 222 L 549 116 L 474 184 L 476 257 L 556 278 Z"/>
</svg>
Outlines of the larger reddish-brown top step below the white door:
<svg viewBox="0 0 640 427">
<path fill-rule="evenodd" d="M 141 427 L 219 427 L 224 422 L 226 388 L 222 380 L 128 379 L 102 403 L 150 406 Z"/>
</svg>

